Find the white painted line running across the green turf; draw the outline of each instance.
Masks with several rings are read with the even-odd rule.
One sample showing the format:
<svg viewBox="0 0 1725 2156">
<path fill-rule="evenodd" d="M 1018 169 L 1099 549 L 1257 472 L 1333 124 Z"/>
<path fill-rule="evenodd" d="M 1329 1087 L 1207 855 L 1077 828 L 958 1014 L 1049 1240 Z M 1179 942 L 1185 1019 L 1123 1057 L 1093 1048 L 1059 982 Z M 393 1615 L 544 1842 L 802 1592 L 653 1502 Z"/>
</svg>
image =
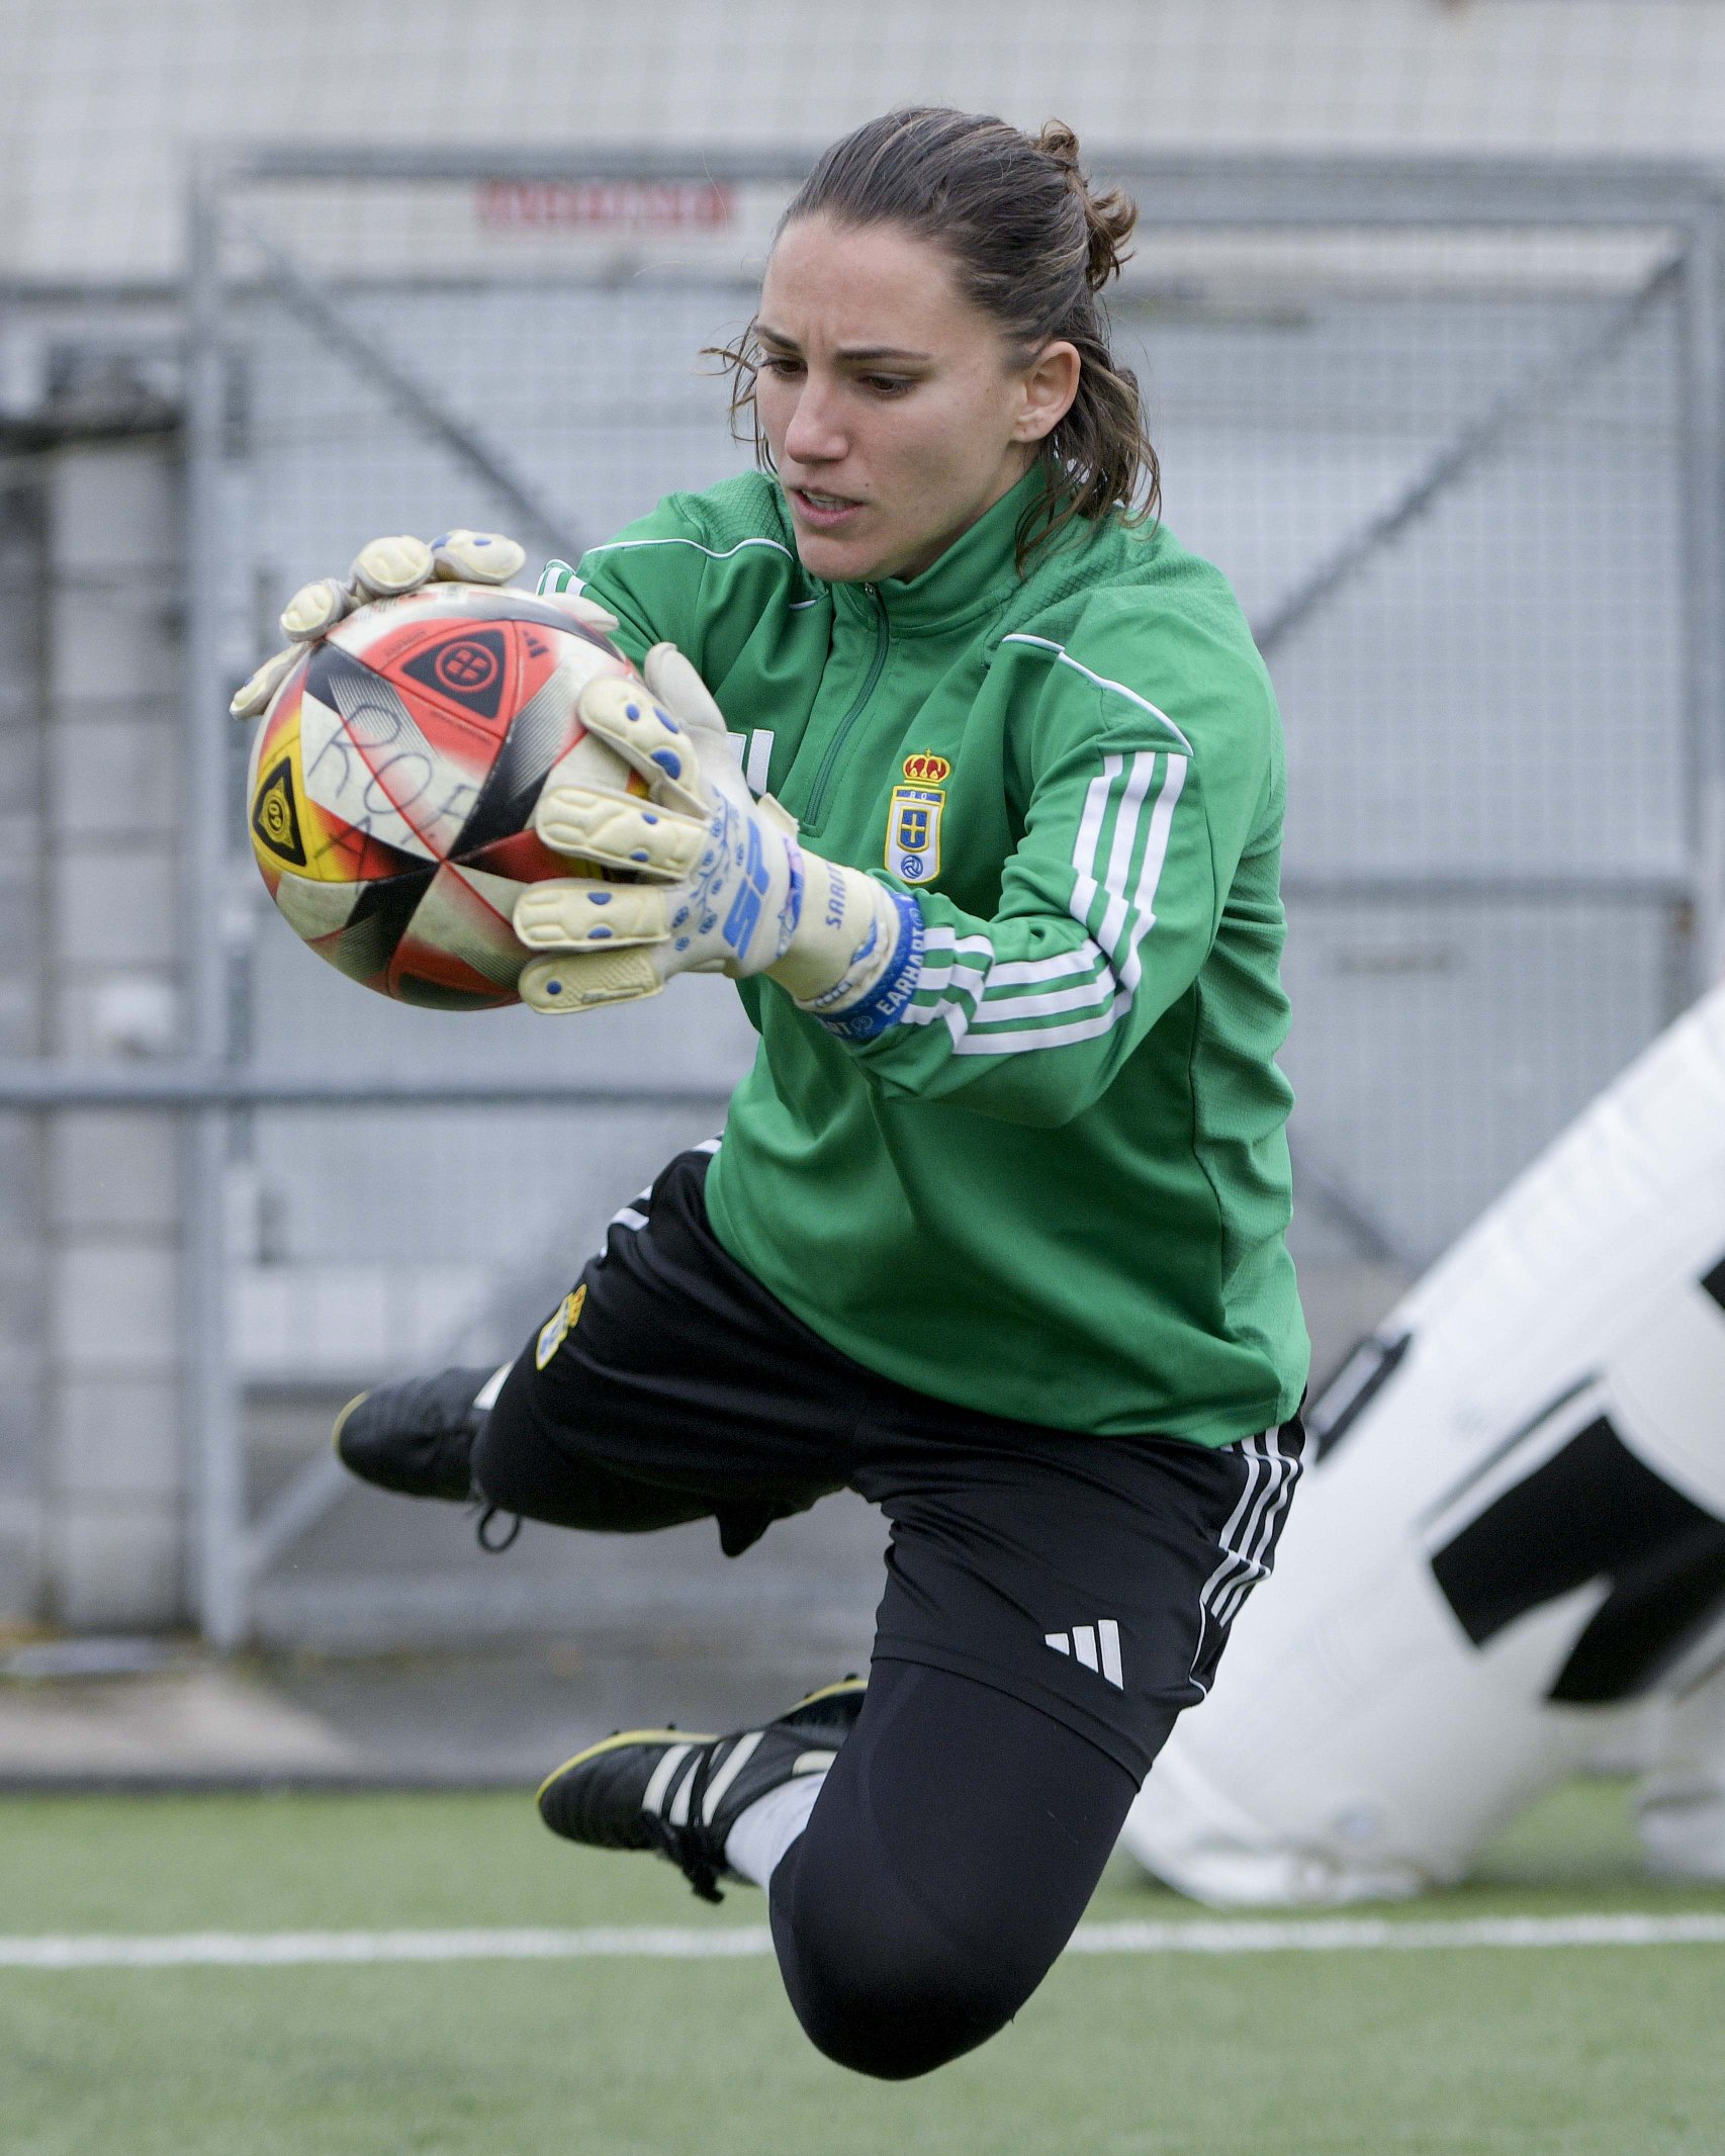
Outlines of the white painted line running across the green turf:
<svg viewBox="0 0 1725 2156">
<path fill-rule="evenodd" d="M 1434 1947 L 1725 1947 L 1725 1915 L 1322 1917 L 1274 1923 L 1087 1923 L 1067 1953 L 1421 1953 Z M 709 1962 L 772 1953 L 765 1925 L 586 1932 L 73 1932 L 0 1938 L 0 1968 L 302 1968 L 315 1962 Z"/>
</svg>

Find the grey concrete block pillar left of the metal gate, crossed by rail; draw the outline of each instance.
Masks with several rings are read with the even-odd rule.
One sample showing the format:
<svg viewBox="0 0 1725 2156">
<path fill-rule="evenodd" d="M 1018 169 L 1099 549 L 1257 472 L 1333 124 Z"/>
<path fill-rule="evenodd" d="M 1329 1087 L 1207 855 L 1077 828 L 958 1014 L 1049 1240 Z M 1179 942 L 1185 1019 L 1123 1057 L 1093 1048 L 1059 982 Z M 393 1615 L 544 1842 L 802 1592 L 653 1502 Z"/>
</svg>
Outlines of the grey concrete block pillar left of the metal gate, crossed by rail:
<svg viewBox="0 0 1725 2156">
<path fill-rule="evenodd" d="M 177 1048 L 181 690 L 172 436 L 69 442 L 45 476 L 41 964 L 50 1054 Z M 170 1117 L 41 1119 L 47 1520 L 39 1606 L 75 1628 L 185 1606 Z"/>
</svg>

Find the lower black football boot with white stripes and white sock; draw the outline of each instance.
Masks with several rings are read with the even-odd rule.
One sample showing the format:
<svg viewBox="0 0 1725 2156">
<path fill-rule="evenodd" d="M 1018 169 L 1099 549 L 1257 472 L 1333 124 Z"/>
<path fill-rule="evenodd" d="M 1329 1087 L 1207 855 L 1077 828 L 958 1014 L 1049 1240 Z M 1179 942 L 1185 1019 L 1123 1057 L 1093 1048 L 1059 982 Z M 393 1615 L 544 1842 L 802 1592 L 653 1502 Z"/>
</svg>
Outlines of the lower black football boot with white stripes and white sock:
<svg viewBox="0 0 1725 2156">
<path fill-rule="evenodd" d="M 865 1677 L 809 1692 L 761 1729 L 724 1738 L 619 1729 L 565 1759 L 539 1787 L 539 1818 L 593 1850 L 656 1850 L 703 1902 L 722 1902 L 724 1839 L 742 1813 L 794 1774 L 819 1774 L 862 1712 Z"/>
</svg>

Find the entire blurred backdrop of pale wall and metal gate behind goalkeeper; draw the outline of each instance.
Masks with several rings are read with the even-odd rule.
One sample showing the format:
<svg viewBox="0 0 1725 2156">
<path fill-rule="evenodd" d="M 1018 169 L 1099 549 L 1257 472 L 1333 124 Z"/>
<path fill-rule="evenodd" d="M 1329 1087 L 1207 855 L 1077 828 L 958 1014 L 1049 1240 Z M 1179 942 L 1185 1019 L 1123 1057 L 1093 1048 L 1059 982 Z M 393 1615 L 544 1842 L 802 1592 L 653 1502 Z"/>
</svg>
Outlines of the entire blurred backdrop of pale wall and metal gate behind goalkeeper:
<svg viewBox="0 0 1725 2156">
<path fill-rule="evenodd" d="M 341 1488 L 341 1399 L 513 1352 L 750 1041 L 319 968 L 224 703 L 373 533 L 574 558 L 740 468 L 699 347 L 899 101 L 1141 203 L 1164 513 L 1287 720 L 1320 1376 L 1716 975 L 1721 0 L 0 0 L 0 1623 L 862 1651 L 860 1507 L 722 1572 Z"/>
</svg>

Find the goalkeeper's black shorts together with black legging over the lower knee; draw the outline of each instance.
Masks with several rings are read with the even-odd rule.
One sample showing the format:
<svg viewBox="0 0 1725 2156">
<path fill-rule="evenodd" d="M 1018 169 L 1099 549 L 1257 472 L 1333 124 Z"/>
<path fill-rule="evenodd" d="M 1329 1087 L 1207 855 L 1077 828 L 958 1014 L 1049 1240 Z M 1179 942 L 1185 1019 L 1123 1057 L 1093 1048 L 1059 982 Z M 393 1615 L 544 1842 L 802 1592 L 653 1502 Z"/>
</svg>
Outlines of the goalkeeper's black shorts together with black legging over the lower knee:
<svg viewBox="0 0 1725 2156">
<path fill-rule="evenodd" d="M 869 1697 L 772 1878 L 813 2042 L 925 2074 L 1024 2005 L 1270 1572 L 1298 1421 L 1205 1449 L 1003 1423 L 873 1376 L 714 1240 L 705 1158 L 625 1207 L 474 1445 L 489 1503 L 729 1552 L 832 1490 L 893 1537 Z M 768 1705 L 763 1701 L 763 1705 Z"/>
</svg>

